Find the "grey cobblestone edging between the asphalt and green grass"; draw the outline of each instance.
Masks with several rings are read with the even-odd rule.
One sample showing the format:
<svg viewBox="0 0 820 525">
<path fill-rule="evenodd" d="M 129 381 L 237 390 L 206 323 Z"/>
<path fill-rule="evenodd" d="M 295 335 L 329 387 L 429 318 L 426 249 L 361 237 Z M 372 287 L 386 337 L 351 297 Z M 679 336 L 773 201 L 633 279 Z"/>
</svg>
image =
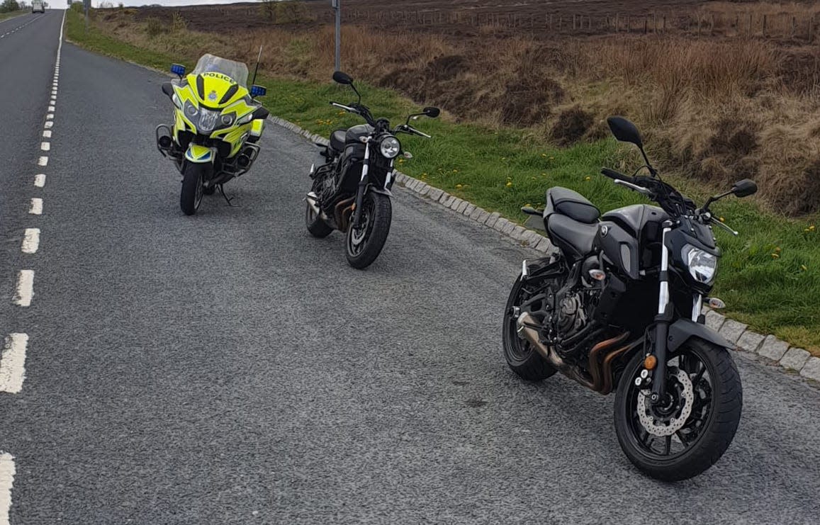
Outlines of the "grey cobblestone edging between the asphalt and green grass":
<svg viewBox="0 0 820 525">
<path fill-rule="evenodd" d="M 271 116 L 270 118 L 277 126 L 285 127 L 314 143 L 330 144 L 328 139 L 303 130 L 292 122 L 285 121 L 278 116 Z M 552 243 L 544 235 L 533 230 L 527 230 L 523 226 L 518 226 L 516 223 L 501 217 L 497 212 L 488 212 L 473 203 L 448 194 L 442 189 L 434 188 L 423 180 L 414 179 L 396 171 L 396 182 L 416 194 L 419 199 L 449 208 L 451 211 L 468 217 L 472 221 L 499 231 L 499 233 L 518 244 L 529 246 L 541 253 L 547 253 L 553 248 Z M 779 340 L 775 336 L 762 336 L 754 331 L 747 330 L 747 325 L 722 316 L 714 310 L 706 309 L 706 326 L 717 331 L 736 345 L 738 350 L 760 356 L 767 363 L 777 364 L 784 372 L 799 373 L 802 377 L 820 382 L 820 358 L 812 357 L 804 349 L 791 347 L 786 341 Z"/>
</svg>

